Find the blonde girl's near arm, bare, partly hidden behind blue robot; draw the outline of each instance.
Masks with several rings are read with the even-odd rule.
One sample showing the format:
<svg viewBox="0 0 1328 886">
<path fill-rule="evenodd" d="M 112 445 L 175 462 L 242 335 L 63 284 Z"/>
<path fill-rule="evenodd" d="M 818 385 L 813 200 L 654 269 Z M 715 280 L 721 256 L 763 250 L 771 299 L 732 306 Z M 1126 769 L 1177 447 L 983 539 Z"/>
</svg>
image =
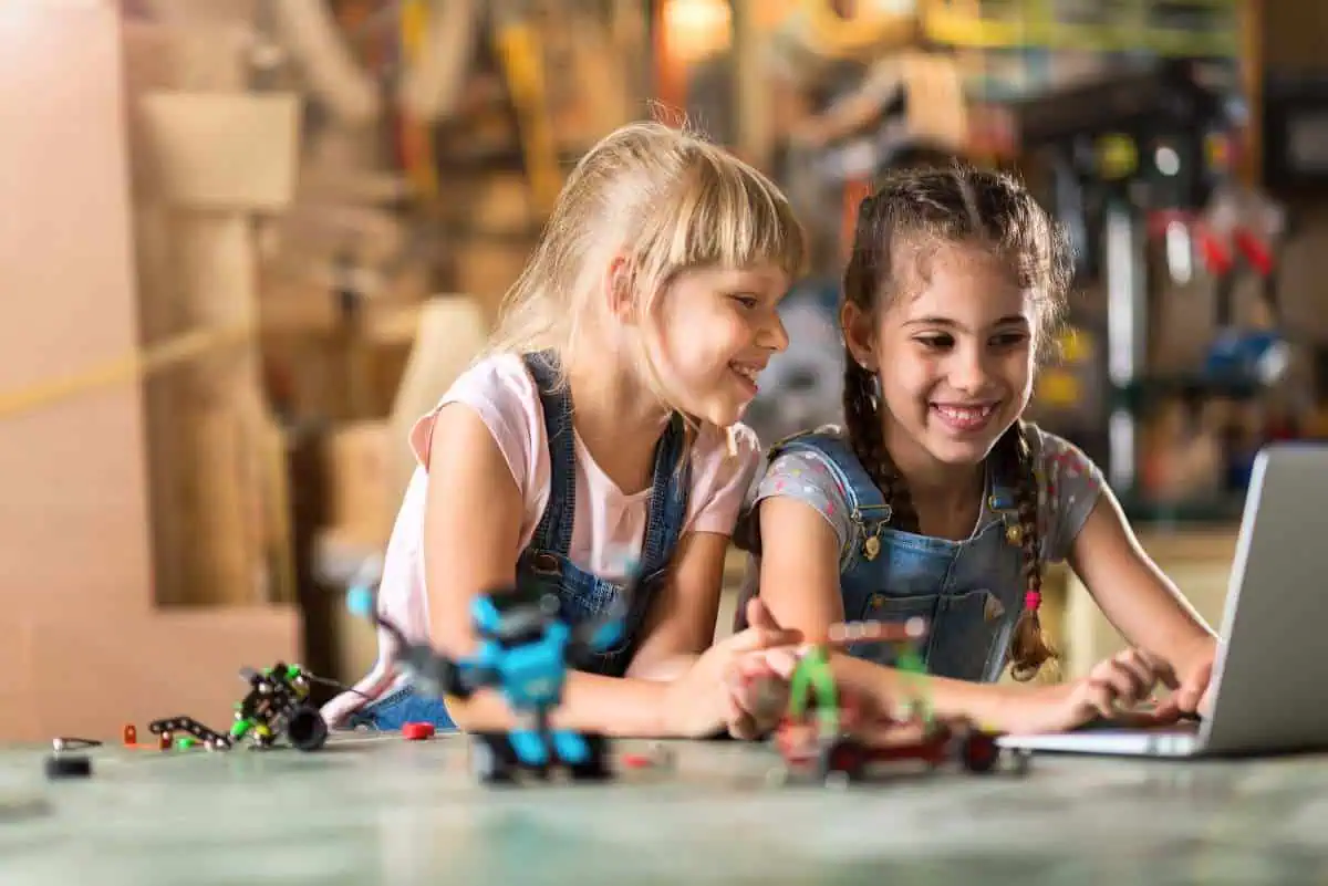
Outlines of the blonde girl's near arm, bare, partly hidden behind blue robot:
<svg viewBox="0 0 1328 886">
<path fill-rule="evenodd" d="M 430 637 L 452 655 L 469 655 L 475 647 L 471 598 L 515 580 L 521 492 L 489 428 L 467 406 L 438 412 L 429 452 L 424 544 Z M 572 671 L 552 720 L 559 728 L 611 736 L 664 735 L 664 683 Z M 448 712 L 467 732 L 517 726 L 494 691 L 449 698 Z"/>
</svg>

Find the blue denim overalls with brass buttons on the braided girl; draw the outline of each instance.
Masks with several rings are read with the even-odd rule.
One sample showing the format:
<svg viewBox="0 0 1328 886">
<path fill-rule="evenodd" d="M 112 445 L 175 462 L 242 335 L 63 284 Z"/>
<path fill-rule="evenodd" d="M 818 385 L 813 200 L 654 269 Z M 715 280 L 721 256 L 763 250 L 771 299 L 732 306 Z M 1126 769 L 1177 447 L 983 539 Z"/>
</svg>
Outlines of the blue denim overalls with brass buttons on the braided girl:
<svg viewBox="0 0 1328 886">
<path fill-rule="evenodd" d="M 1005 537 L 1015 520 L 1015 497 L 988 475 L 981 516 L 964 541 L 891 529 L 890 507 L 849 444 L 825 432 L 807 432 L 772 447 L 822 458 L 846 489 L 851 535 L 841 557 L 839 590 L 845 618 L 928 621 L 919 651 L 938 676 L 993 682 L 1005 666 L 1011 631 L 1024 602 L 1023 553 Z M 892 664 L 888 643 L 861 643 L 850 655 Z"/>
</svg>

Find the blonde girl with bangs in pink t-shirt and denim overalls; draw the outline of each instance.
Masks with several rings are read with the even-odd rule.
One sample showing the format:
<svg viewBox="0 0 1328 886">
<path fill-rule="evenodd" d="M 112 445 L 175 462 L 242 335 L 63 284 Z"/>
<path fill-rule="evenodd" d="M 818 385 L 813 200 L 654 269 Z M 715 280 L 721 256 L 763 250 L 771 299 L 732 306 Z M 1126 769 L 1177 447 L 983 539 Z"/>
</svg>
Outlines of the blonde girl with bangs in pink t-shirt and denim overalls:
<svg viewBox="0 0 1328 886">
<path fill-rule="evenodd" d="M 769 726 L 732 678 L 778 667 L 765 650 L 795 634 L 756 605 L 750 630 L 712 641 L 725 549 L 760 463 L 738 419 L 788 344 L 776 308 L 802 263 L 785 198 L 724 150 L 657 123 L 592 147 L 491 346 L 410 434 L 420 464 L 386 552 L 382 614 L 465 654 L 477 593 L 542 586 L 578 623 L 623 594 L 635 564 L 644 581 L 623 641 L 570 675 L 554 726 L 619 736 Z M 329 722 L 511 726 L 493 695 L 416 695 L 386 666 L 389 642 L 327 706 Z"/>
</svg>

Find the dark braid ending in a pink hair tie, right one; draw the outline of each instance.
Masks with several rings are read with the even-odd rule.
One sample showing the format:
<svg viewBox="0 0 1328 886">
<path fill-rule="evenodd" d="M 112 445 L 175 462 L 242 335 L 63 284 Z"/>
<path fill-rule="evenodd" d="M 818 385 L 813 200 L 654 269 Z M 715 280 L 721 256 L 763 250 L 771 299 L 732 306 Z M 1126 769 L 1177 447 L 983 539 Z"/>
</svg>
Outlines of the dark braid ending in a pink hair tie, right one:
<svg viewBox="0 0 1328 886">
<path fill-rule="evenodd" d="M 1040 556 L 1037 520 L 1037 476 L 1033 474 L 1033 454 L 1023 420 L 1015 422 L 997 443 L 1007 477 L 1015 479 L 1015 515 L 1011 541 L 1024 553 L 1024 607 L 1015 622 L 1009 642 L 1011 676 L 1031 680 L 1042 664 L 1057 658 L 1046 641 L 1038 609 L 1042 605 L 1042 564 Z"/>
</svg>

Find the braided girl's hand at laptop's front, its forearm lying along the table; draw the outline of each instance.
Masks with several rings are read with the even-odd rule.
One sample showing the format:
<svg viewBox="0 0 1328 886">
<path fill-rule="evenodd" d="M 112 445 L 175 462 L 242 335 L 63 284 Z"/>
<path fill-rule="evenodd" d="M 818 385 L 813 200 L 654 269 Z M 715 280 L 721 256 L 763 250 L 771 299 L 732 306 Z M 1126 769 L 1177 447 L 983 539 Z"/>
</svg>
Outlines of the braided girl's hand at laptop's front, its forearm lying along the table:
<svg viewBox="0 0 1328 886">
<path fill-rule="evenodd" d="M 1011 712 L 1007 729 L 1065 732 L 1097 719 L 1122 726 L 1166 723 L 1177 718 L 1166 704 L 1146 714 L 1138 711 L 1139 703 L 1149 700 L 1159 683 L 1178 688 L 1171 666 L 1142 650 L 1129 649 L 1100 662 L 1082 679 L 1012 699 L 1012 706 L 1017 707 Z"/>
</svg>

